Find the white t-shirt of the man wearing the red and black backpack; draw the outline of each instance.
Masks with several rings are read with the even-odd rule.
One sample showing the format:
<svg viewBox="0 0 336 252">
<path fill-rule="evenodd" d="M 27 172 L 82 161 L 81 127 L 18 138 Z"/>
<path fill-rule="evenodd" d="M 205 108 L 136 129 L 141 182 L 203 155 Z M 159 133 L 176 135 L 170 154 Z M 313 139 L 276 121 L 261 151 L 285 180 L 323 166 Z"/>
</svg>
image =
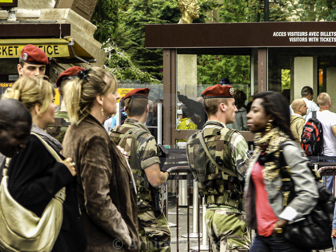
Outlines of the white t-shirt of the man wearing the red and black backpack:
<svg viewBox="0 0 336 252">
<path fill-rule="evenodd" d="M 312 117 L 311 112 L 307 115 L 306 122 Z M 316 118 L 323 128 L 323 147 L 325 156 L 336 156 L 336 138 L 332 126 L 336 125 L 336 114 L 329 110 L 316 112 Z"/>
</svg>

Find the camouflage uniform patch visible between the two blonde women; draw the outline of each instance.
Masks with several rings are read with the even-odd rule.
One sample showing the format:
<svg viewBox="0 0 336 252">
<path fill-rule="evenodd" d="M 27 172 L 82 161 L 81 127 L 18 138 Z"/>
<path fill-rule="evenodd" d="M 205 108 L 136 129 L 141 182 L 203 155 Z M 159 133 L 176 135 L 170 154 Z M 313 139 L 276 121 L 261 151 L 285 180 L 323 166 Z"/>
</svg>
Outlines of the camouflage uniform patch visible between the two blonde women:
<svg viewBox="0 0 336 252">
<path fill-rule="evenodd" d="M 60 143 L 63 142 L 65 132 L 70 126 L 69 115 L 65 107 L 60 106 L 55 112 L 55 123 L 45 128 L 47 133 L 56 138 Z"/>
</svg>

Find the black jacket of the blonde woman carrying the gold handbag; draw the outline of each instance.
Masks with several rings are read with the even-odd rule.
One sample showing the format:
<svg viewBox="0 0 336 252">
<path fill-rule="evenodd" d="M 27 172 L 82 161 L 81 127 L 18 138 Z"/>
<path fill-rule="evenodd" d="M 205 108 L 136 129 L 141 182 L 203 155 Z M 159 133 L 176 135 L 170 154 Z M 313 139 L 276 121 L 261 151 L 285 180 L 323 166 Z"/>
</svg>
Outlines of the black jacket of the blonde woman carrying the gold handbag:
<svg viewBox="0 0 336 252">
<path fill-rule="evenodd" d="M 26 148 L 16 154 L 8 167 L 8 189 L 25 208 L 41 216 L 53 196 L 66 186 L 63 221 L 51 251 L 84 251 L 86 238 L 79 212 L 75 179 L 34 135 L 26 139 Z"/>
</svg>

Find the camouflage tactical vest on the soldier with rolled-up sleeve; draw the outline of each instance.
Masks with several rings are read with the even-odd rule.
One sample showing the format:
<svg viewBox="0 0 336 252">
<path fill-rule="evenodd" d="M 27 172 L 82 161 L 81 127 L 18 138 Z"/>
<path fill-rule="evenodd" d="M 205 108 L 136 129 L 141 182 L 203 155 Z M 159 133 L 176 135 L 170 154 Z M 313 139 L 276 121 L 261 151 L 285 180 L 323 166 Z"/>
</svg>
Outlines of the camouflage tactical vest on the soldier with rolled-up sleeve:
<svg viewBox="0 0 336 252">
<path fill-rule="evenodd" d="M 113 130 L 110 130 L 109 135 L 115 144 L 120 145 L 127 153 L 130 152 L 129 163 L 137 187 L 138 200 L 150 202 L 152 200 L 150 184 L 144 170 L 141 169 L 140 160 L 137 158 L 137 139 L 143 133 L 148 133 L 148 131 L 141 128 L 129 128 L 118 125 Z"/>
</svg>

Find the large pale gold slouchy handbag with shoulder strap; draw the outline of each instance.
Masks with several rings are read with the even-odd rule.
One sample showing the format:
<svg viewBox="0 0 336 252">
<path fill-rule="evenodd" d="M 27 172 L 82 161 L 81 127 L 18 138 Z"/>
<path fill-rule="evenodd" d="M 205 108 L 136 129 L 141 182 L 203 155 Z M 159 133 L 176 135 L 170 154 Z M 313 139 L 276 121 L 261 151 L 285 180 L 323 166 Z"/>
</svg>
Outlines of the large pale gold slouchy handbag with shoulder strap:
<svg viewBox="0 0 336 252">
<path fill-rule="evenodd" d="M 54 149 L 40 136 L 36 136 L 51 155 L 57 161 L 61 161 Z M 17 203 L 10 195 L 7 185 L 9 161 L 7 158 L 0 184 L 0 251 L 49 252 L 54 246 L 62 224 L 65 187 L 55 194 L 40 218 Z"/>
</svg>

